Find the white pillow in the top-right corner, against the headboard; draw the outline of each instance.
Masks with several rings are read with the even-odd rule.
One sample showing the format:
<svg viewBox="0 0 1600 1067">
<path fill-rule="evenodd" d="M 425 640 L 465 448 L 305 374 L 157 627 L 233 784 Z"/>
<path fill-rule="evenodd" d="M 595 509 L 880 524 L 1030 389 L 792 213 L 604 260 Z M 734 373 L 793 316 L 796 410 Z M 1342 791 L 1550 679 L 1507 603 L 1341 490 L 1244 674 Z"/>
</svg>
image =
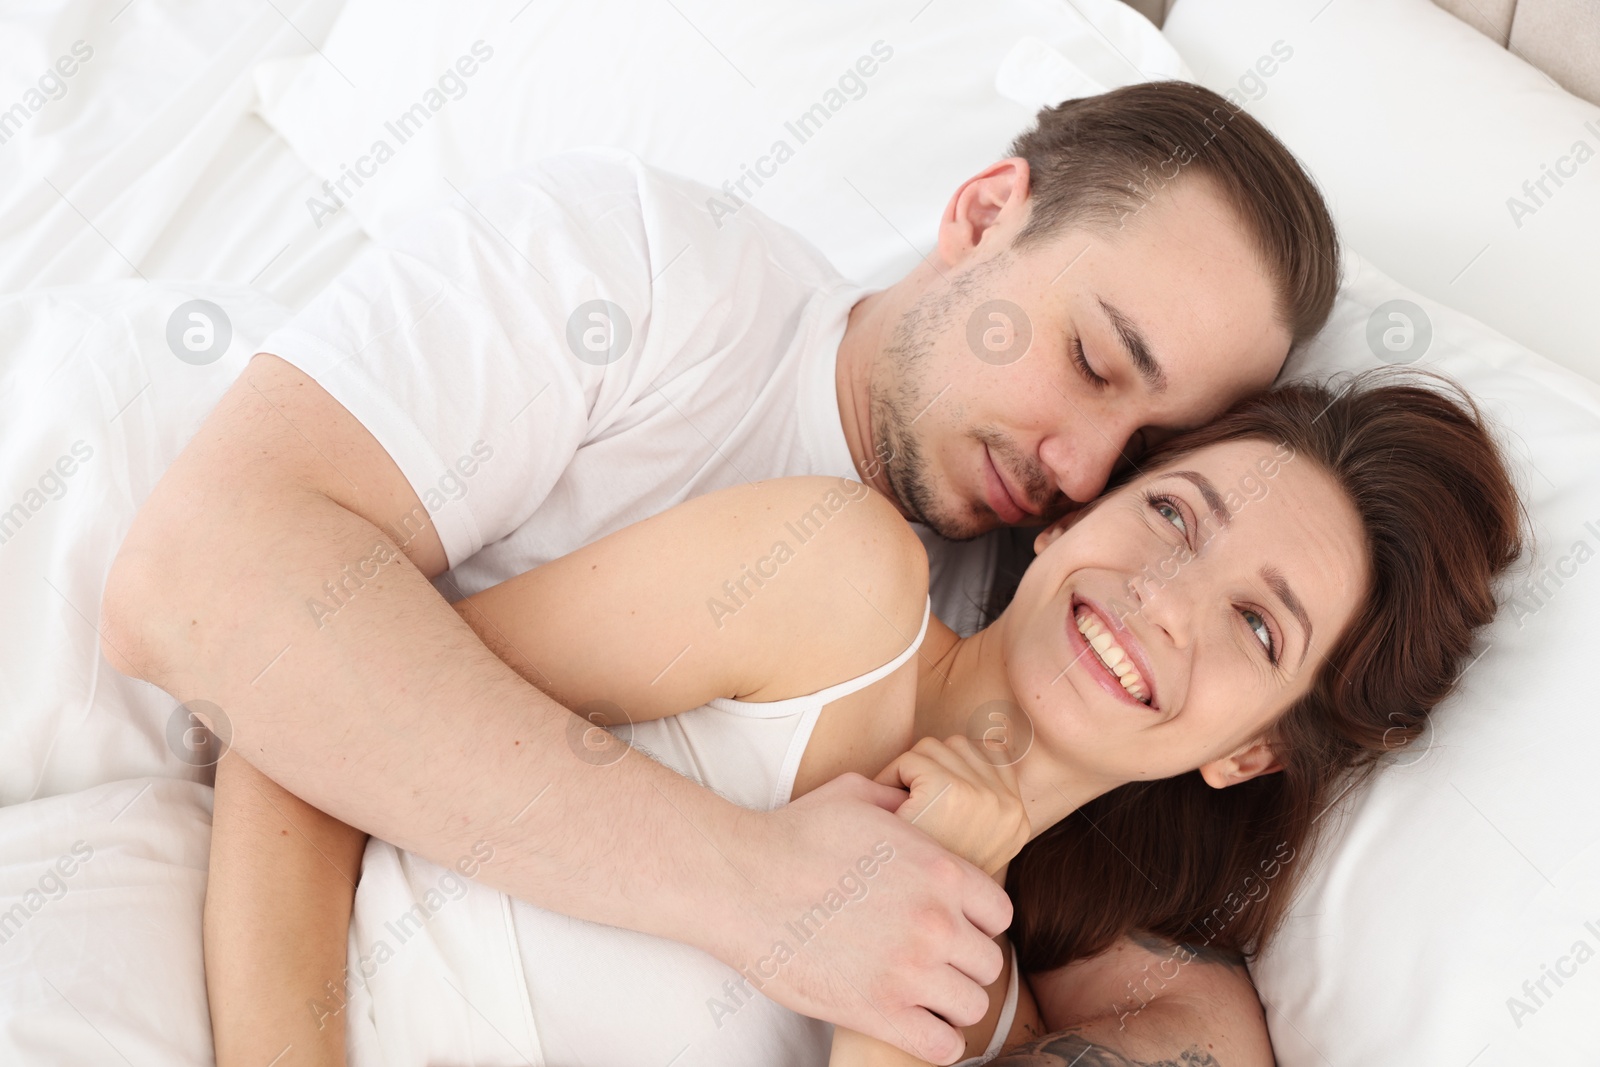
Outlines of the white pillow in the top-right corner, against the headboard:
<svg viewBox="0 0 1600 1067">
<path fill-rule="evenodd" d="M 1179 0 L 1165 34 L 1378 267 L 1600 381 L 1600 107 L 1429 0 Z"/>
</svg>

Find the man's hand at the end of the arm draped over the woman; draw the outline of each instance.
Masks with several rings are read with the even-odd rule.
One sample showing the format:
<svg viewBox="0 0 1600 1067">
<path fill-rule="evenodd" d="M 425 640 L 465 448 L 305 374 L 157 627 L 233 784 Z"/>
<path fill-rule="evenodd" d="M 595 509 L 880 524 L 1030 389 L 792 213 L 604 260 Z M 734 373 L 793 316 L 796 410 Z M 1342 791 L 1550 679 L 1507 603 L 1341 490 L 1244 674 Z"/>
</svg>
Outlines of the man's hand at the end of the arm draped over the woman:
<svg viewBox="0 0 1600 1067">
<path fill-rule="evenodd" d="M 843 774 L 771 813 L 779 833 L 747 853 L 766 923 L 746 926 L 749 947 L 718 955 L 752 982 L 766 981 L 762 992 L 786 1008 L 950 1064 L 965 1051 L 957 1027 L 989 1009 L 982 987 L 1003 966 L 990 937 L 1011 923 L 1011 901 L 891 816 L 904 798 Z M 766 896 L 768 888 L 778 891 Z M 787 961 L 776 942 L 794 949 Z"/>
</svg>

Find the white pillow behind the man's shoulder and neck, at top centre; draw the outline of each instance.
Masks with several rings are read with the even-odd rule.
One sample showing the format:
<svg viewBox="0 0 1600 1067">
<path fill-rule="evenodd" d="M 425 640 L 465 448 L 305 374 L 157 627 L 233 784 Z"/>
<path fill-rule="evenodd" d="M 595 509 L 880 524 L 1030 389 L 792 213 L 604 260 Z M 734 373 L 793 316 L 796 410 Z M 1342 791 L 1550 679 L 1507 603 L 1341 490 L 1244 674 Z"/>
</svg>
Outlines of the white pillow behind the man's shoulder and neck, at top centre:
<svg viewBox="0 0 1600 1067">
<path fill-rule="evenodd" d="M 981 19 L 960 3 L 859 0 L 781 16 L 728 0 L 350 0 L 322 54 L 261 64 L 258 86 L 262 117 L 314 171 L 354 174 L 307 206 L 309 221 L 347 210 L 382 238 L 451 186 L 605 144 L 731 182 L 730 210 L 754 203 L 846 277 L 888 285 L 933 248 L 957 186 L 1032 123 L 1034 98 L 1064 88 L 1038 45 L 1070 59 L 1080 93 L 1141 70 L 1182 74 L 1171 45 L 1117 0 L 994 0 Z M 818 104 L 829 110 L 802 130 Z M 757 186 L 754 168 L 771 176 Z"/>
</svg>

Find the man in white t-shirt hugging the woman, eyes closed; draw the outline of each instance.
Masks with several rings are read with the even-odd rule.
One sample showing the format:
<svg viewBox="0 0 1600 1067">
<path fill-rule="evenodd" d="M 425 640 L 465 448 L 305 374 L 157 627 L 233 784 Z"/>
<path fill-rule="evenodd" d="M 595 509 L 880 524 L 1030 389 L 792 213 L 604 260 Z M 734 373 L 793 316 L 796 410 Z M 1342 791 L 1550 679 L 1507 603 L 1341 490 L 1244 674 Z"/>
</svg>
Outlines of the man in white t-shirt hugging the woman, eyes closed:
<svg viewBox="0 0 1600 1067">
<path fill-rule="evenodd" d="M 1013 147 L 880 293 L 622 154 L 422 216 L 272 334 L 166 472 L 107 581 L 106 656 L 219 705 L 237 755 L 342 822 L 446 865 L 493 841 L 494 888 L 734 968 L 888 841 L 874 893 L 762 992 L 950 1062 L 1010 904 L 893 817 L 898 792 L 845 777 L 752 814 L 648 760 L 597 761 L 589 723 L 438 592 L 725 485 L 832 474 L 922 525 L 936 609 L 974 629 L 984 534 L 1093 499 L 1155 435 L 1266 387 L 1338 280 L 1309 179 L 1205 90 L 1070 101 Z M 686 609 L 736 614 L 754 590 L 730 576 Z M 1114 955 L 1043 976 L 1046 1024 L 1128 1054 L 1186 1035 L 1262 1054 L 1248 979 L 1210 965 L 1126 1045 L 1112 1001 L 1088 1006 Z"/>
</svg>

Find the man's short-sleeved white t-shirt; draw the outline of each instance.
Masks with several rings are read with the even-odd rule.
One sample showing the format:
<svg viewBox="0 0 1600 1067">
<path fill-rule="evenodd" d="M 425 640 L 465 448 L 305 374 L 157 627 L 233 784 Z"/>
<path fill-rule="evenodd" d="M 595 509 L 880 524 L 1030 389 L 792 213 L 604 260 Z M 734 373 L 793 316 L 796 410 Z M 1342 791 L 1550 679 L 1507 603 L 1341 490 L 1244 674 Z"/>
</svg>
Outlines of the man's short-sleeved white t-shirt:
<svg viewBox="0 0 1600 1067">
<path fill-rule="evenodd" d="M 750 206 L 714 219 L 712 195 L 621 150 L 547 157 L 419 214 L 262 342 L 398 464 L 448 598 L 701 493 L 861 478 L 835 368 L 866 290 Z M 934 611 L 974 630 L 992 537 L 917 530 Z"/>
</svg>

